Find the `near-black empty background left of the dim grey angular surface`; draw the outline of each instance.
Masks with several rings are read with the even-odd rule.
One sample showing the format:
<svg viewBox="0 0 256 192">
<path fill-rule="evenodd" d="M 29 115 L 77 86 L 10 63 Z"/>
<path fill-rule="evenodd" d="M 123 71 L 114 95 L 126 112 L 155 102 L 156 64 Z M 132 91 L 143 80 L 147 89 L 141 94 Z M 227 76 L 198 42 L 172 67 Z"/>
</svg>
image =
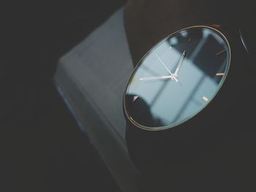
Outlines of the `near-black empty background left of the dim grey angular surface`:
<svg viewBox="0 0 256 192">
<path fill-rule="evenodd" d="M 0 191 L 119 191 L 53 85 L 120 0 L 1 1 Z"/>
</svg>

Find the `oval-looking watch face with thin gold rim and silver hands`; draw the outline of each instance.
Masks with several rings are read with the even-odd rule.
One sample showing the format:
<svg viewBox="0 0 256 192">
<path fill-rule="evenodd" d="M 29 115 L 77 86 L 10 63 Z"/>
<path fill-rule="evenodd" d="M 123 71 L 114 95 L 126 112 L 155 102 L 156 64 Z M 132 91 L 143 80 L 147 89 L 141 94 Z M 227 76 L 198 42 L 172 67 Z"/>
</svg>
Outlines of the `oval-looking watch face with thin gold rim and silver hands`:
<svg viewBox="0 0 256 192">
<path fill-rule="evenodd" d="M 195 116 L 227 76 L 230 46 L 214 28 L 185 28 L 162 39 L 132 72 L 124 111 L 136 126 L 172 128 Z"/>
</svg>

